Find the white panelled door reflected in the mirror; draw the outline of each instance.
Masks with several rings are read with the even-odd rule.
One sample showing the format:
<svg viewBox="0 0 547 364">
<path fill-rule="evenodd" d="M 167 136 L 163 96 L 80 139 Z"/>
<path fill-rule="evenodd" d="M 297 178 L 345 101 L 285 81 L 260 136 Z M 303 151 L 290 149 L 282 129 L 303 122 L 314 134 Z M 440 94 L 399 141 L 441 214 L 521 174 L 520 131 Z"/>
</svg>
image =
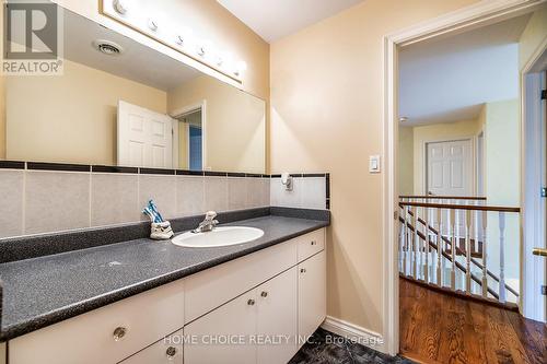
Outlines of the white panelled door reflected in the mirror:
<svg viewBox="0 0 547 364">
<path fill-rule="evenodd" d="M 173 122 L 165 114 L 118 102 L 118 165 L 173 167 Z"/>
</svg>

